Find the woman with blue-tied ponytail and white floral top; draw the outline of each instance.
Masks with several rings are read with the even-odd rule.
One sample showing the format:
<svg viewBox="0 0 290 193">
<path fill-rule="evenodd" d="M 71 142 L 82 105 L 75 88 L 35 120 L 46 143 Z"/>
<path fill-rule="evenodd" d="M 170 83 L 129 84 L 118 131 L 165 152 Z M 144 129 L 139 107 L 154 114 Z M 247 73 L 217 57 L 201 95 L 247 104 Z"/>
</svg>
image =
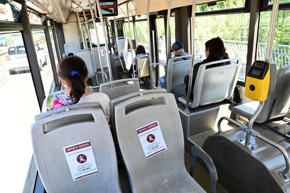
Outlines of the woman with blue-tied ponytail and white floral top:
<svg viewBox="0 0 290 193">
<path fill-rule="evenodd" d="M 60 61 L 58 74 L 66 92 L 48 96 L 43 101 L 42 112 L 50 111 L 68 105 L 99 102 L 105 116 L 110 116 L 111 101 L 104 93 L 90 93 L 85 90 L 85 82 L 88 80 L 88 69 L 85 62 L 78 56 L 70 56 Z"/>
</svg>

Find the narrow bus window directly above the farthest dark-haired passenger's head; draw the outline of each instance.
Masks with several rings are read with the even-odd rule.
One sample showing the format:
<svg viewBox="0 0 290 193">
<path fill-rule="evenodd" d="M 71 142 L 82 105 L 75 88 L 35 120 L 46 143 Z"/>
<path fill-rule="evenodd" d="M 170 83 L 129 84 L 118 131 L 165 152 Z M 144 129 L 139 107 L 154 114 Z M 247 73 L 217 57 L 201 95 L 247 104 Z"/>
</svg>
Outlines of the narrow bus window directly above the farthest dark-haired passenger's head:
<svg viewBox="0 0 290 193">
<path fill-rule="evenodd" d="M 138 45 L 144 46 L 146 52 L 149 52 L 147 21 L 135 21 L 135 26 Z"/>
</svg>

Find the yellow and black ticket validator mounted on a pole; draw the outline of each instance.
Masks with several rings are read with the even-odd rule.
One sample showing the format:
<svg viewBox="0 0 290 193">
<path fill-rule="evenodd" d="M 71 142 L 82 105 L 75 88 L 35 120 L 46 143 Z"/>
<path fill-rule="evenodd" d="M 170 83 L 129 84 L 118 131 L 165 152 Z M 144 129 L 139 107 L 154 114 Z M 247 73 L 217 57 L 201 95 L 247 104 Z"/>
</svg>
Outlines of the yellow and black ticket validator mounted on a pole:
<svg viewBox="0 0 290 193">
<path fill-rule="evenodd" d="M 256 60 L 247 74 L 245 95 L 254 101 L 266 101 L 270 86 L 270 63 Z"/>
</svg>

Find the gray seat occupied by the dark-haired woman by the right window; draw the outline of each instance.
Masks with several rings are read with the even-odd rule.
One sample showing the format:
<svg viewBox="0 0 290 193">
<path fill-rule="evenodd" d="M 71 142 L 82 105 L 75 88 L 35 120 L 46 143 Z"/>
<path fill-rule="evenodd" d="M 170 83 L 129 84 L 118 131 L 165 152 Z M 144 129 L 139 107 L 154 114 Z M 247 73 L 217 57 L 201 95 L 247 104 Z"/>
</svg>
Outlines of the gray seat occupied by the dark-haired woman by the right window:
<svg viewBox="0 0 290 193">
<path fill-rule="evenodd" d="M 237 63 L 205 69 L 206 66 L 228 61 Z M 194 84 L 193 101 L 189 101 L 189 107 L 196 108 L 230 99 L 234 93 L 241 64 L 241 58 L 230 58 L 200 65 Z M 178 100 L 186 104 L 186 97 L 179 97 Z"/>
</svg>

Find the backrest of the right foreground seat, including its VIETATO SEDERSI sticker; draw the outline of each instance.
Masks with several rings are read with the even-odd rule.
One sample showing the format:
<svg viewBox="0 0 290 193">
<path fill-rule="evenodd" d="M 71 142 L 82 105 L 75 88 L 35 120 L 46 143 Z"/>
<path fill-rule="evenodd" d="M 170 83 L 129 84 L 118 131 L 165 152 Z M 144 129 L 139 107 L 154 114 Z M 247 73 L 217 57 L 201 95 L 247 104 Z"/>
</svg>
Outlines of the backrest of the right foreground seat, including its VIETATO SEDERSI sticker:
<svg viewBox="0 0 290 193">
<path fill-rule="evenodd" d="M 132 192 L 145 192 L 147 184 L 164 178 L 168 172 L 186 172 L 182 125 L 172 93 L 126 100 L 115 106 L 115 117 Z"/>
</svg>

